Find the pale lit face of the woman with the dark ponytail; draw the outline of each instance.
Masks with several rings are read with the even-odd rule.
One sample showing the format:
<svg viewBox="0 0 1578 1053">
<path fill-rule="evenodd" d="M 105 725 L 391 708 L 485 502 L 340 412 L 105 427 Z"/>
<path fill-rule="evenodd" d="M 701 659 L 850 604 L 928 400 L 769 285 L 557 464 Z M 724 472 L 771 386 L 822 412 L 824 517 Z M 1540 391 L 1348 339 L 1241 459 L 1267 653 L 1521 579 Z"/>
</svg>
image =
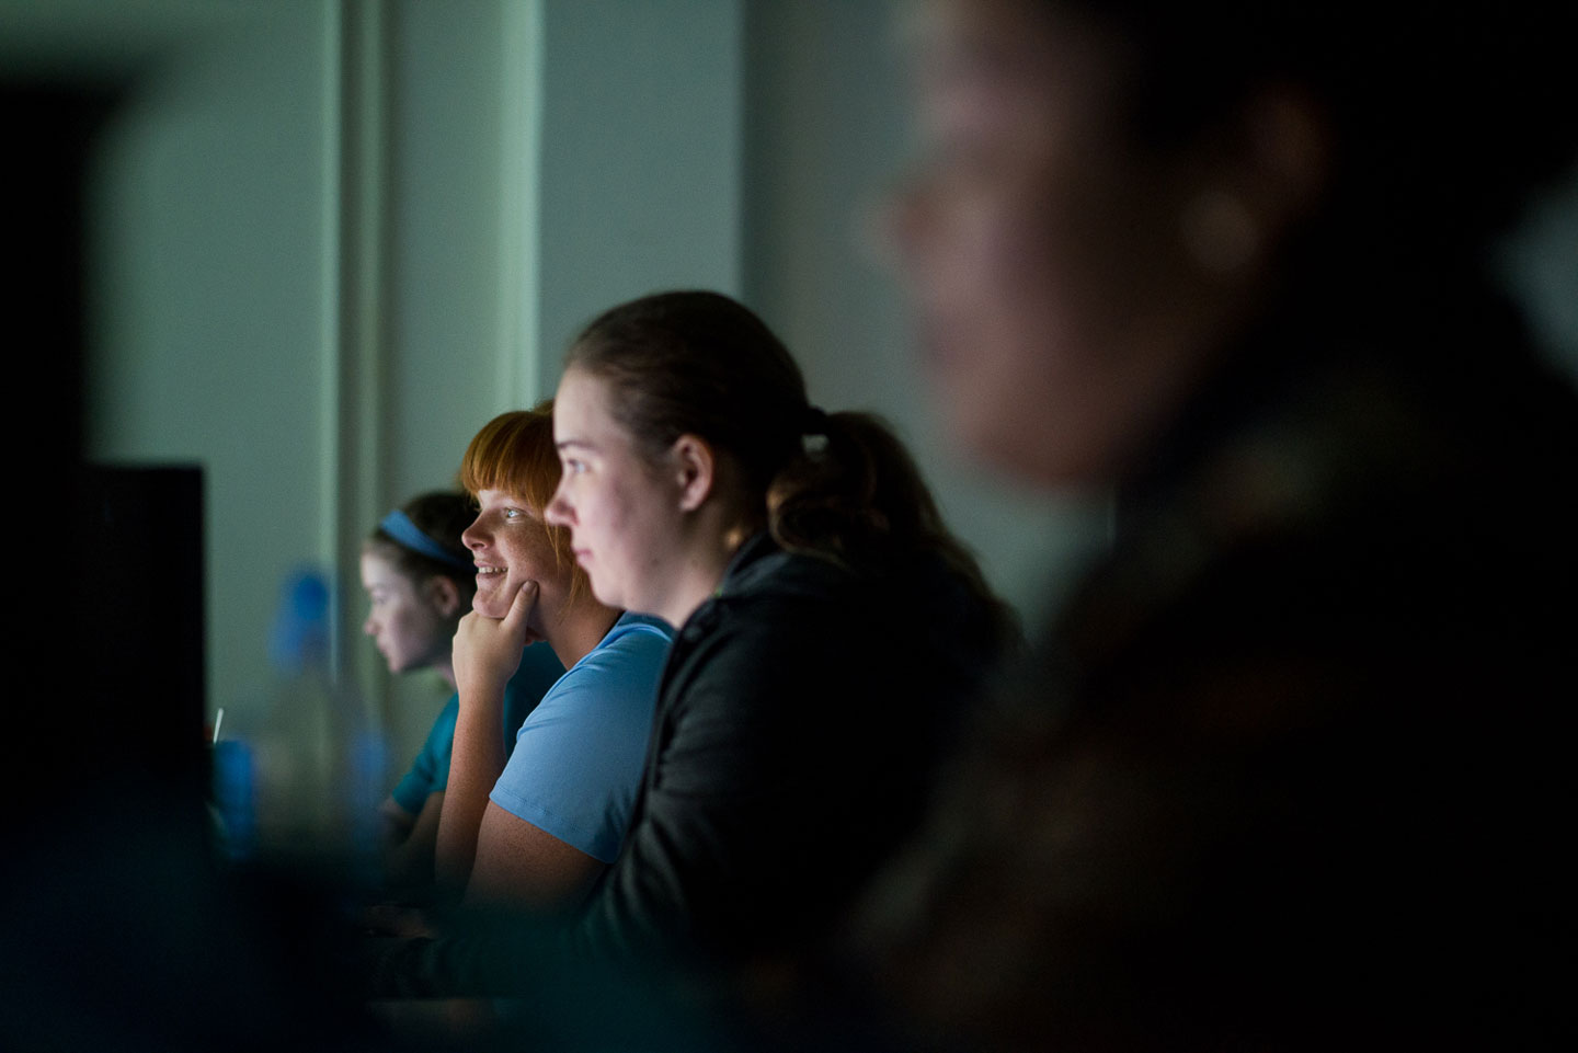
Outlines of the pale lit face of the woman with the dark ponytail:
<svg viewBox="0 0 1578 1053">
<path fill-rule="evenodd" d="M 571 368 L 554 396 L 559 491 L 549 523 L 570 527 L 576 562 L 603 603 L 666 616 L 679 551 L 674 486 L 609 412 L 609 385 Z"/>
</svg>

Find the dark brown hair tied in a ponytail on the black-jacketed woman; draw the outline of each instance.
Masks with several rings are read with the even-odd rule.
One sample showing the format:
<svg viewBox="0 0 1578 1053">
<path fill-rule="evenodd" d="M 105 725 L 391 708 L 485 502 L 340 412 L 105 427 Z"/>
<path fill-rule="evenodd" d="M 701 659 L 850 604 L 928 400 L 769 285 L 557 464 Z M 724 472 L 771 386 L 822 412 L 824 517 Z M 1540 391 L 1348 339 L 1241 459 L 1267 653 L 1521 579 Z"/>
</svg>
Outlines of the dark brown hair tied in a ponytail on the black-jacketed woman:
<svg viewBox="0 0 1578 1053">
<path fill-rule="evenodd" d="M 933 549 L 1007 617 L 892 429 L 814 409 L 800 366 L 745 305 L 697 290 L 631 300 L 582 330 L 567 368 L 614 388 L 615 420 L 653 461 L 683 434 L 726 455 L 743 526 L 849 565 Z"/>
</svg>

